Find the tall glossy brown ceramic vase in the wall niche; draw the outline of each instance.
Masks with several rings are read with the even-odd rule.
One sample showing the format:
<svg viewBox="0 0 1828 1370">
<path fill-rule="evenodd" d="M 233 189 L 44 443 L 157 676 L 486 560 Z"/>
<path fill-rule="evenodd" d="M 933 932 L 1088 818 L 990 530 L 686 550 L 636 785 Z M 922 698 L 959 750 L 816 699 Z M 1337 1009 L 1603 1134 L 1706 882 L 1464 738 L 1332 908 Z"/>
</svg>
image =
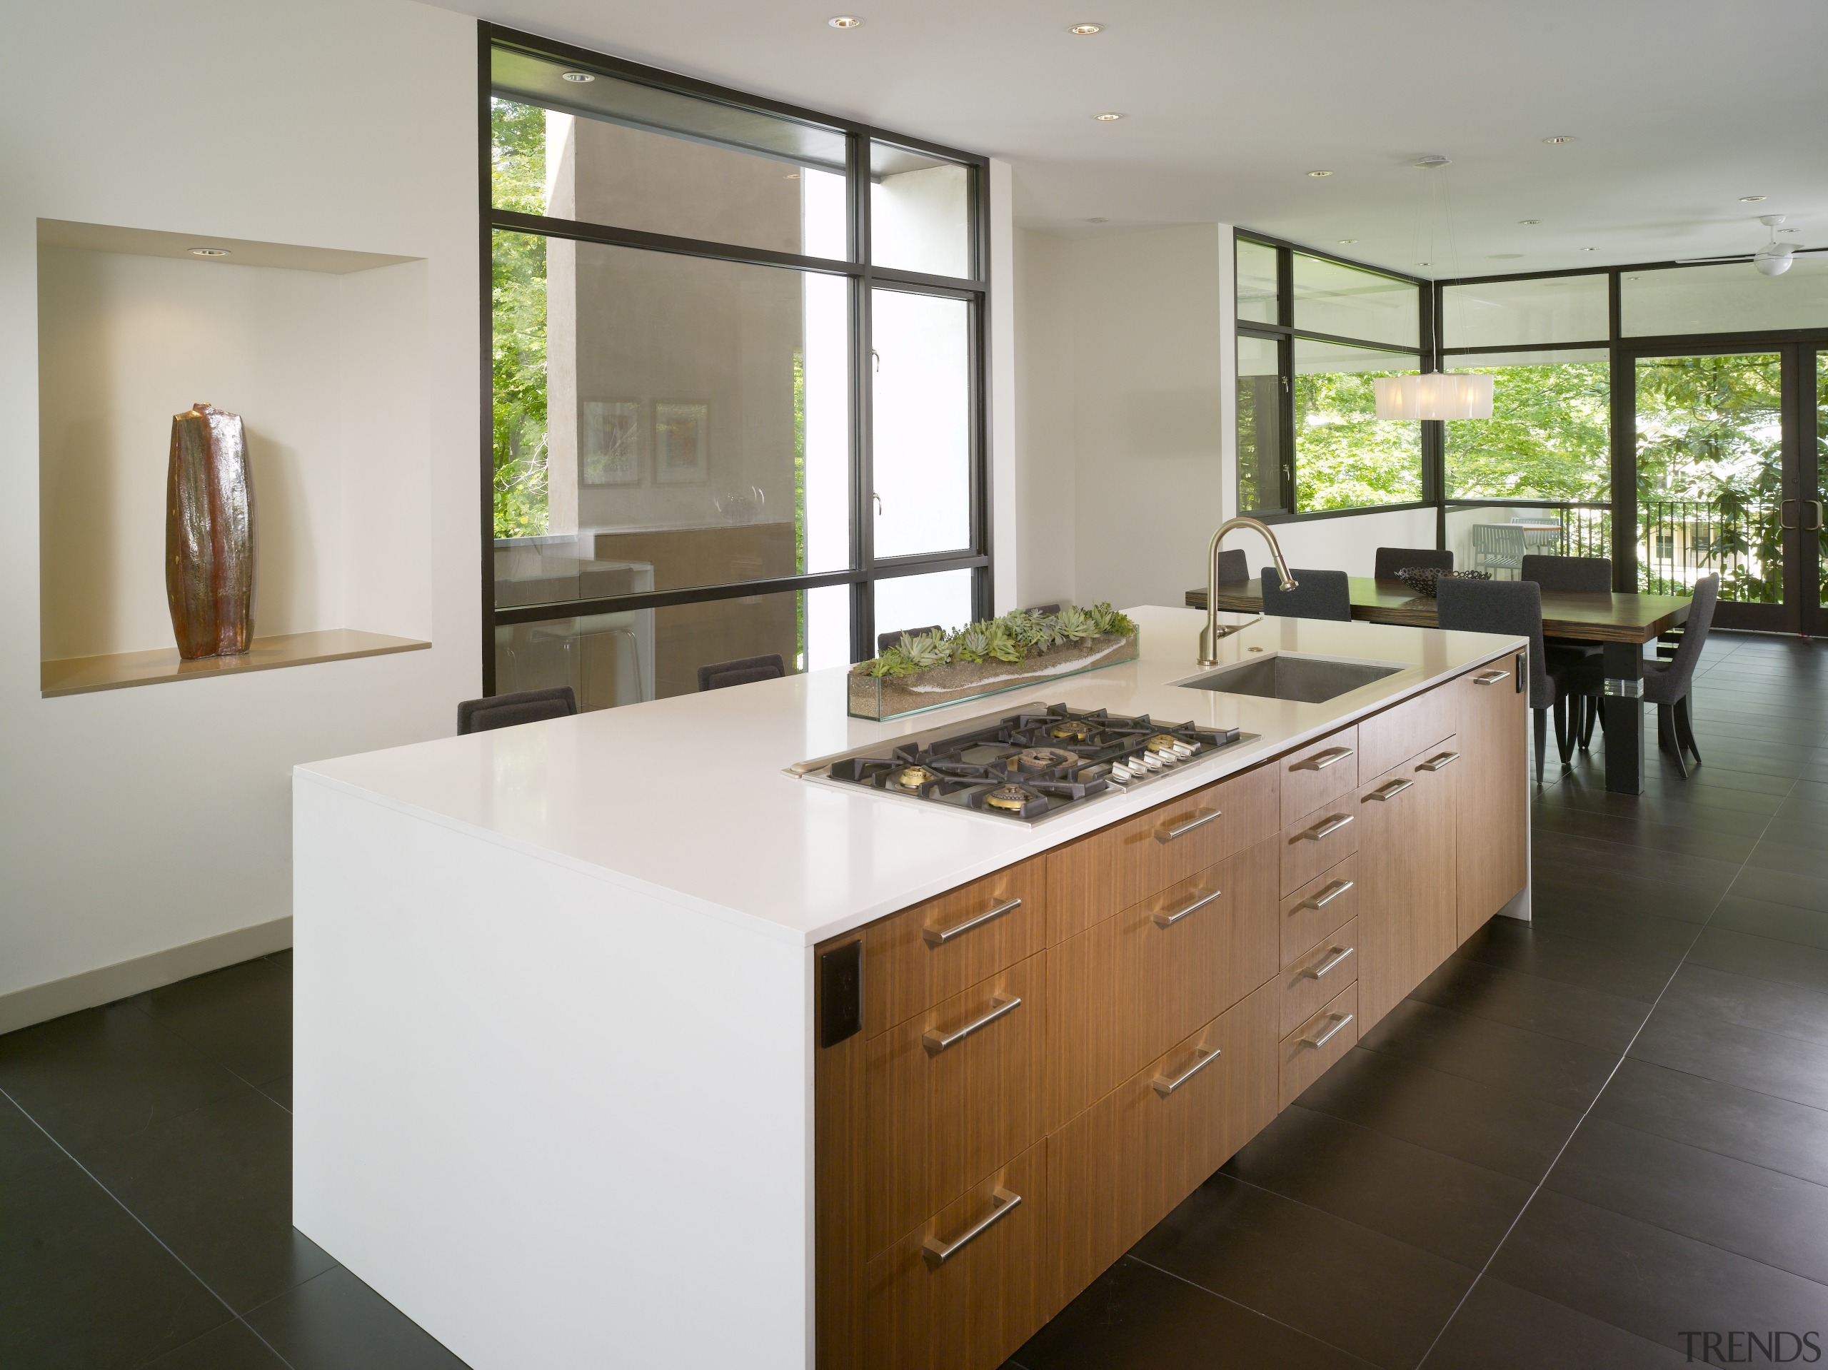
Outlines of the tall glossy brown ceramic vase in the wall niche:
<svg viewBox="0 0 1828 1370">
<path fill-rule="evenodd" d="M 165 597 L 177 654 L 239 656 L 254 639 L 254 475 L 241 415 L 196 404 L 172 416 L 165 482 Z"/>
</svg>

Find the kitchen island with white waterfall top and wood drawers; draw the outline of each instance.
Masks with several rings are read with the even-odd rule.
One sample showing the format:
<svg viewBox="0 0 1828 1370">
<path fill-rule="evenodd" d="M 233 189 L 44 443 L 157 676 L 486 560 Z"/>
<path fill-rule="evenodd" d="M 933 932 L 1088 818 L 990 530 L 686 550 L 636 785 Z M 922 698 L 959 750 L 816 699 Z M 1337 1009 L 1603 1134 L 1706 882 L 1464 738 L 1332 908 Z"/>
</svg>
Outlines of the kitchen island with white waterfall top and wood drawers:
<svg viewBox="0 0 1828 1370">
<path fill-rule="evenodd" d="M 1397 667 L 1298 703 L 1130 614 L 901 722 L 830 670 L 298 767 L 298 1228 L 477 1370 L 998 1365 L 1528 915 L 1521 639 L 1219 643 Z M 1033 826 L 790 775 L 1042 698 L 1247 740 Z"/>
</svg>

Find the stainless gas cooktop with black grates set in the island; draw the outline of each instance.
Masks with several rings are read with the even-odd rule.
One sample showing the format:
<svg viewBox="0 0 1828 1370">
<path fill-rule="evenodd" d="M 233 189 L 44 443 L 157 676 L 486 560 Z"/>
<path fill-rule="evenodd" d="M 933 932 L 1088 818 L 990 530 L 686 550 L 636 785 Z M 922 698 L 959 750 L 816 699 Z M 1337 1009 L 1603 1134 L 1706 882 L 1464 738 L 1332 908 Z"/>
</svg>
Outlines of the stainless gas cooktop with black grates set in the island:
<svg viewBox="0 0 1828 1370">
<path fill-rule="evenodd" d="M 1033 824 L 1137 789 L 1256 736 L 1236 727 L 1035 703 L 801 762 L 788 775 Z"/>
</svg>

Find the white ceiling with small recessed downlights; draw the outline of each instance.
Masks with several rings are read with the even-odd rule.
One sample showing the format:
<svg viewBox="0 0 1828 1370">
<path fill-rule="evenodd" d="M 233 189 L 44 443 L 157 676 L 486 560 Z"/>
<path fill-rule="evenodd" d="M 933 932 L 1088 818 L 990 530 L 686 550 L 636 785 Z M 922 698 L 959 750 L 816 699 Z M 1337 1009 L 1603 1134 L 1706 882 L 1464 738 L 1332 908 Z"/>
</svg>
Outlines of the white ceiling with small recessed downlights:
<svg viewBox="0 0 1828 1370">
<path fill-rule="evenodd" d="M 1821 0 L 450 7 L 1004 157 L 1016 221 L 1055 232 L 1223 221 L 1419 276 L 1749 252 L 1759 214 L 1828 247 Z"/>
</svg>

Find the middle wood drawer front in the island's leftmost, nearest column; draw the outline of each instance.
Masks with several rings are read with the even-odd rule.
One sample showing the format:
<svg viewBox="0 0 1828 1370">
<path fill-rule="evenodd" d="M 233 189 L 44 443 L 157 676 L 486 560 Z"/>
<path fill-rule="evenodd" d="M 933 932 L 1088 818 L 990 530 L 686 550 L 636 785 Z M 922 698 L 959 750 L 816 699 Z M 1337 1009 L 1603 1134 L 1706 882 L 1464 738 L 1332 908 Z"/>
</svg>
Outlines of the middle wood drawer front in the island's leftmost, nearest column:
<svg viewBox="0 0 1828 1370">
<path fill-rule="evenodd" d="M 865 1255 L 1040 1138 L 1044 961 L 1029 957 L 865 1043 Z M 1011 999 L 1020 1005 L 938 1047 Z"/>
</svg>

